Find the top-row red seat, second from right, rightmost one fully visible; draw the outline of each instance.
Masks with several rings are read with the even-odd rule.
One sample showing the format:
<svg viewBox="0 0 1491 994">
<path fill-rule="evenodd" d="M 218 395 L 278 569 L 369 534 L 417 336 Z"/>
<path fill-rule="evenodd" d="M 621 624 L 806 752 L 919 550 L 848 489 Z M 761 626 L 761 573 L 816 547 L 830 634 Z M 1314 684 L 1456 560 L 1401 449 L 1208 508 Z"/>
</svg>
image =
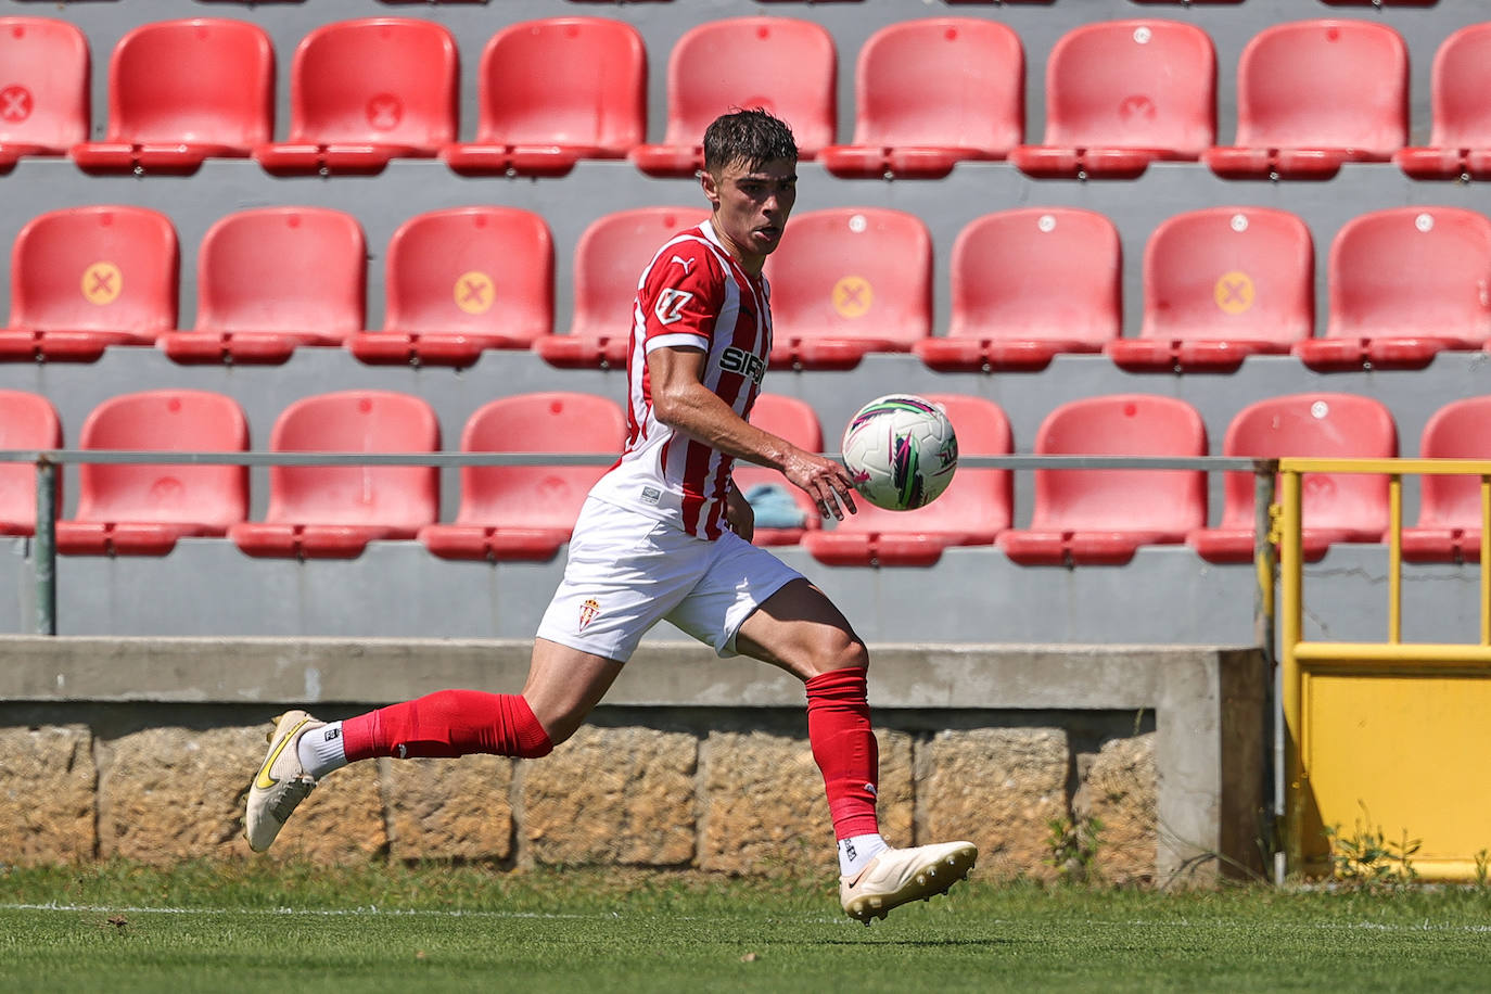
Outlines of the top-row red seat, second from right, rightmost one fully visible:
<svg viewBox="0 0 1491 994">
<path fill-rule="evenodd" d="M 1408 45 L 1372 21 L 1267 27 L 1238 61 L 1238 140 L 1202 155 L 1227 179 L 1328 179 L 1408 140 Z"/>
</svg>

